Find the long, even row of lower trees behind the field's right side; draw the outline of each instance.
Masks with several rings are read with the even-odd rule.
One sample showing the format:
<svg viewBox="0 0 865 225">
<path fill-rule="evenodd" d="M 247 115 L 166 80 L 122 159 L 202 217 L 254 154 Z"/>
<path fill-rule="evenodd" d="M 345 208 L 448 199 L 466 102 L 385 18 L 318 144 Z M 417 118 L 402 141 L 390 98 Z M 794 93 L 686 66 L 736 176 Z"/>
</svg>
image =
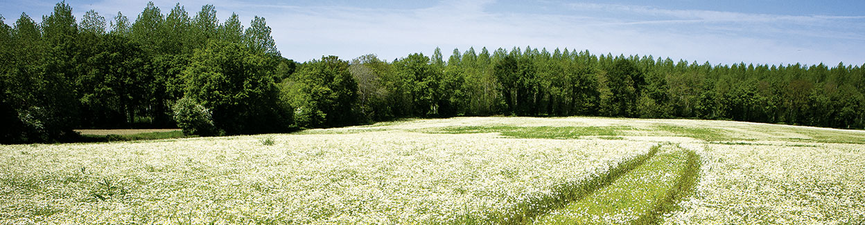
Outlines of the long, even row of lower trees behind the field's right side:
<svg viewBox="0 0 865 225">
<path fill-rule="evenodd" d="M 349 70 L 362 119 L 427 116 L 623 116 L 865 126 L 865 66 L 713 66 L 652 56 L 514 47 L 442 59 L 375 55 Z"/>
</svg>

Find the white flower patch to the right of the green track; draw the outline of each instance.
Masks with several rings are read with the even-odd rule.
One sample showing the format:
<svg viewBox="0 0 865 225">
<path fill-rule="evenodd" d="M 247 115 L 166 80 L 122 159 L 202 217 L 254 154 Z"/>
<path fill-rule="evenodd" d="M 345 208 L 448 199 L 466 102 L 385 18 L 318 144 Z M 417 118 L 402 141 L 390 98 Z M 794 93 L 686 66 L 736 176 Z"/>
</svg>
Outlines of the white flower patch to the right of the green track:
<svg viewBox="0 0 865 225">
<path fill-rule="evenodd" d="M 701 181 L 666 224 L 865 222 L 865 146 L 708 145 Z"/>
</svg>

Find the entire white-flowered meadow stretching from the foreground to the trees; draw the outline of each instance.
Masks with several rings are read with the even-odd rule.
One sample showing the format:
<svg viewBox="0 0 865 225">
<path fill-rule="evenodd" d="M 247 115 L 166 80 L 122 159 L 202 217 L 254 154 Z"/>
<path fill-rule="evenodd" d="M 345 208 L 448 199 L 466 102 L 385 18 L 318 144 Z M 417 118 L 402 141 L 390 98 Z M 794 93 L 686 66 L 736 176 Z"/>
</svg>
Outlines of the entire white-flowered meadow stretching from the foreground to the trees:
<svg viewBox="0 0 865 225">
<path fill-rule="evenodd" d="M 457 117 L 0 146 L 0 224 L 861 224 L 865 132 Z"/>
</svg>

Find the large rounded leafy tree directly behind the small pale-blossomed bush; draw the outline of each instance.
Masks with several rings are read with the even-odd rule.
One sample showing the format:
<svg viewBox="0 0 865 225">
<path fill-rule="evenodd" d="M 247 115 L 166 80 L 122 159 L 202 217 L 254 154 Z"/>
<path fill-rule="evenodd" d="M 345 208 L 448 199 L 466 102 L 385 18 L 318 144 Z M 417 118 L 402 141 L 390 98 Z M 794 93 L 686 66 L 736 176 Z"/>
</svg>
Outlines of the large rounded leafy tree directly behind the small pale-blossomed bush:
<svg viewBox="0 0 865 225">
<path fill-rule="evenodd" d="M 210 41 L 183 70 L 185 96 L 213 110 L 215 127 L 227 134 L 285 131 L 292 109 L 279 101 L 272 57 L 238 43 Z"/>
</svg>

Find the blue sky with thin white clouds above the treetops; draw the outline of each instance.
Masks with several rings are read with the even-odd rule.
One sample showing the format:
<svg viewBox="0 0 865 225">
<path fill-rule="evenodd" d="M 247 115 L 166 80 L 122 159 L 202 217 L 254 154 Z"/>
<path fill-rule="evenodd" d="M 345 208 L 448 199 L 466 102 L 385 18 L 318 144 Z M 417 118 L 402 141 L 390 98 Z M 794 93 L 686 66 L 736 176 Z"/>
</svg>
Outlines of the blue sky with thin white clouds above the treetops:
<svg viewBox="0 0 865 225">
<path fill-rule="evenodd" d="M 546 47 L 614 55 L 651 55 L 713 65 L 836 66 L 865 63 L 862 0 L 443 0 L 443 1 L 153 1 L 163 14 L 176 3 L 190 16 L 213 4 L 225 21 L 232 12 L 248 26 L 263 16 L 285 58 L 324 55 L 354 59 L 375 53 L 392 61 L 410 53 L 445 59 L 458 48 Z M 0 15 L 36 22 L 57 1 L 3 0 Z M 67 1 L 76 19 L 94 9 L 111 20 L 134 21 L 147 1 Z"/>
</svg>

